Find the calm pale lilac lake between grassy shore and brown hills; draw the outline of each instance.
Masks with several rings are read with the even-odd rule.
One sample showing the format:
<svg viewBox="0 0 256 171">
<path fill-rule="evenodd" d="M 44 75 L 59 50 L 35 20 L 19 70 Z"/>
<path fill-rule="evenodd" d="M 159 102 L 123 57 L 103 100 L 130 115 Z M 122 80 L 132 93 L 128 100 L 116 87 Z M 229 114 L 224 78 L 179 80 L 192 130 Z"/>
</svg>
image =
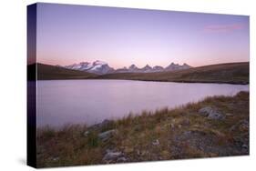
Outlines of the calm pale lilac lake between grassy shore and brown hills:
<svg viewBox="0 0 256 171">
<path fill-rule="evenodd" d="M 37 83 L 37 126 L 87 124 L 197 102 L 206 96 L 233 96 L 249 85 L 50 80 Z"/>
</svg>

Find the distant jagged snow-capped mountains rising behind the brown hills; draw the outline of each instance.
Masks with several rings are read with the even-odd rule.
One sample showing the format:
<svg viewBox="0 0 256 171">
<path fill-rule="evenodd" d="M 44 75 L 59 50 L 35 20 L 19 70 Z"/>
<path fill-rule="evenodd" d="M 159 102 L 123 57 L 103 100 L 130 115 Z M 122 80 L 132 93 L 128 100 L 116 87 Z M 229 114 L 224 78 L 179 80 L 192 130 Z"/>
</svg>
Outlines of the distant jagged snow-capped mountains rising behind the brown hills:
<svg viewBox="0 0 256 171">
<path fill-rule="evenodd" d="M 94 73 L 97 75 L 106 75 L 113 73 L 156 73 L 164 71 L 177 71 L 189 69 L 192 66 L 187 65 L 186 63 L 184 63 L 183 65 L 171 63 L 167 67 L 163 67 L 160 65 L 155 65 L 151 67 L 150 65 L 145 65 L 142 68 L 138 68 L 136 65 L 133 64 L 129 67 L 118 68 L 115 70 L 113 67 L 109 66 L 108 63 L 97 60 L 93 63 L 81 62 L 79 64 L 65 65 L 62 67 L 65 67 L 67 69 L 86 71 L 88 73 Z"/>
</svg>

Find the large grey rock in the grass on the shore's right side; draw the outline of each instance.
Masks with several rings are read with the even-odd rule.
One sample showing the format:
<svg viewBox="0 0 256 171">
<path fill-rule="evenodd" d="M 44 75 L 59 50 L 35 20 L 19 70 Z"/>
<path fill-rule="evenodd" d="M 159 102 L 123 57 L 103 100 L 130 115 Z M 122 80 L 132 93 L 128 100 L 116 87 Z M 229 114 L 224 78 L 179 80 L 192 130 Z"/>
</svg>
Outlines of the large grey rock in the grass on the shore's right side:
<svg viewBox="0 0 256 171">
<path fill-rule="evenodd" d="M 210 106 L 200 108 L 199 113 L 202 116 L 207 116 L 209 119 L 222 120 L 225 118 L 225 116 L 223 116 L 219 111 Z"/>
</svg>

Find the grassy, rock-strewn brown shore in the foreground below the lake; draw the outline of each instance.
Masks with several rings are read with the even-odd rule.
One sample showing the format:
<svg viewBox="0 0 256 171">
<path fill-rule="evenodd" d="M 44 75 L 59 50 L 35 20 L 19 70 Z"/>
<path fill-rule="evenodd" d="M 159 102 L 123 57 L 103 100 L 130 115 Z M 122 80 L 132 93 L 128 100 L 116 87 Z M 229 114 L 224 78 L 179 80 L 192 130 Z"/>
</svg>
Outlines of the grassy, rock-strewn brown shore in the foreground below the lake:
<svg viewBox="0 0 256 171">
<path fill-rule="evenodd" d="M 240 155 L 249 155 L 248 92 L 95 126 L 37 129 L 37 167 Z"/>
</svg>

